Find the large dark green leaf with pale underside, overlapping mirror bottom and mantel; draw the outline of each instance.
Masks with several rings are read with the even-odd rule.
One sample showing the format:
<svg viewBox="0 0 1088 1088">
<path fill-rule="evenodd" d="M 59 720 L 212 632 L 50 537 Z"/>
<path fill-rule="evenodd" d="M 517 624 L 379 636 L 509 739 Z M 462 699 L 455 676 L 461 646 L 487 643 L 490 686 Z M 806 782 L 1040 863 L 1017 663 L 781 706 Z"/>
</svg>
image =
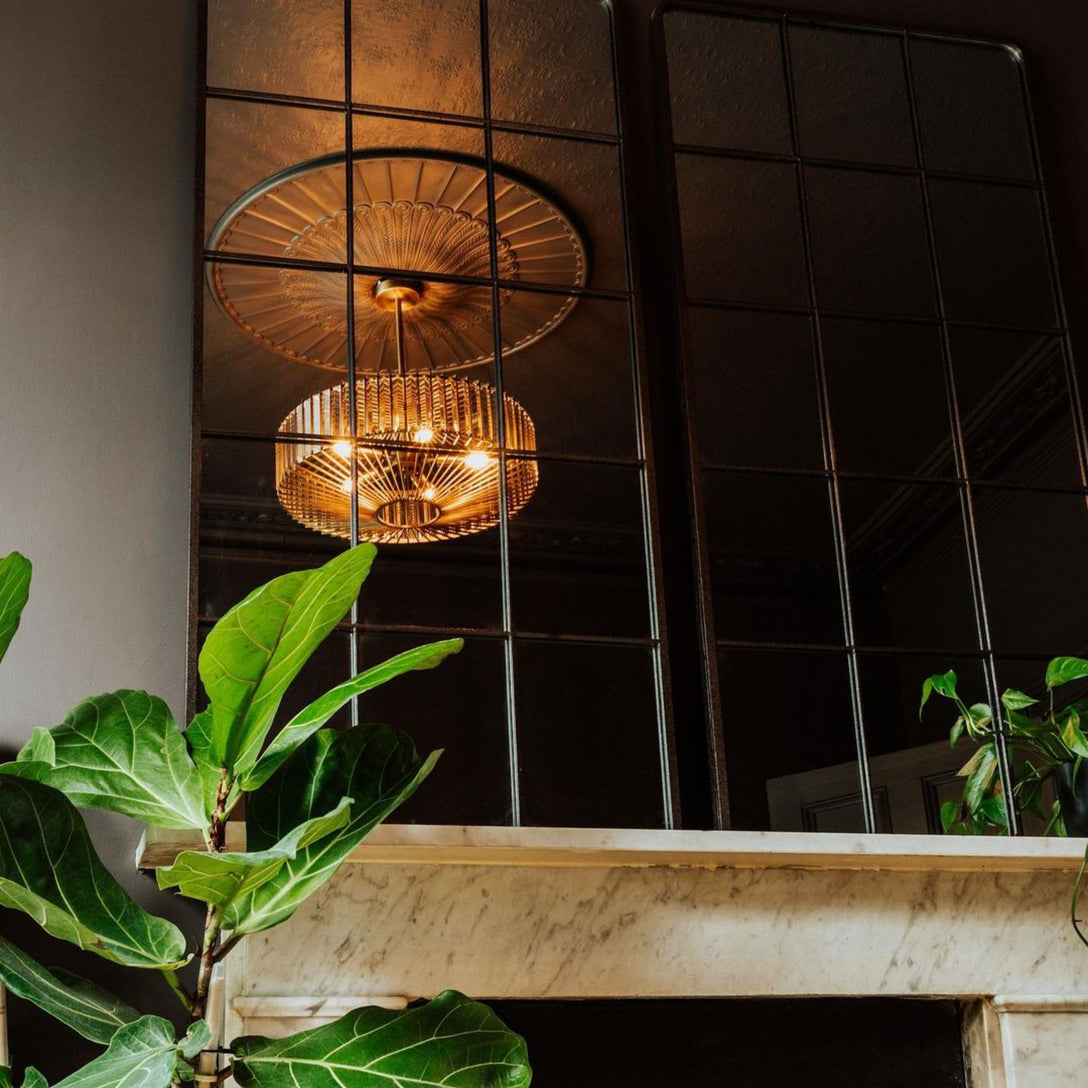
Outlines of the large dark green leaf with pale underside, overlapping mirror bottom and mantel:
<svg viewBox="0 0 1088 1088">
<path fill-rule="evenodd" d="M 300 850 L 226 914 L 235 934 L 252 934 L 289 918 L 339 868 L 347 855 L 431 772 L 440 753 L 420 761 L 416 745 L 388 726 L 316 732 L 249 795 L 246 838 L 254 850 L 274 846 L 293 828 L 329 812 L 342 798 L 351 815 L 341 830 Z"/>
</svg>

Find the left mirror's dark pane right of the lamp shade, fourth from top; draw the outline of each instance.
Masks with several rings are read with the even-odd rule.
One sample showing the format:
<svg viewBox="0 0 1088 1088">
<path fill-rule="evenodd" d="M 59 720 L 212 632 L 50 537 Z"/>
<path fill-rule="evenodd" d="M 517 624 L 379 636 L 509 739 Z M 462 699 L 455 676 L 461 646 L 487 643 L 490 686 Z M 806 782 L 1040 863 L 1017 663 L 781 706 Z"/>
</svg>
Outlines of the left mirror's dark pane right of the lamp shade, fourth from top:
<svg viewBox="0 0 1088 1088">
<path fill-rule="evenodd" d="M 510 521 L 514 627 L 549 634 L 650 633 L 641 470 L 539 462 Z"/>
</svg>

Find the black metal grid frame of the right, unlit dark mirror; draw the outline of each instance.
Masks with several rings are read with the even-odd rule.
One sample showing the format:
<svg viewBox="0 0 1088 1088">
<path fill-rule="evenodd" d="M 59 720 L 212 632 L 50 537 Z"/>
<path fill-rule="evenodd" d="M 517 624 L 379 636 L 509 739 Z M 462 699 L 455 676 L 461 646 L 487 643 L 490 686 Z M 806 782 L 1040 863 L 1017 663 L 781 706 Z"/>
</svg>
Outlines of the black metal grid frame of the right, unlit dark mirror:
<svg viewBox="0 0 1088 1088">
<path fill-rule="evenodd" d="M 679 145 L 672 140 L 672 102 L 671 95 L 669 94 L 669 72 L 668 72 L 668 59 L 666 52 L 666 34 L 665 34 L 665 15 L 668 12 L 691 12 L 703 15 L 716 15 L 726 18 L 733 20 L 749 20 L 749 21 L 759 21 L 766 24 L 775 24 L 778 27 L 778 38 L 779 47 L 782 55 L 782 66 L 783 66 L 783 77 L 787 85 L 787 104 L 789 114 L 789 126 L 790 126 L 790 145 L 791 153 L 789 154 L 776 154 L 766 152 L 750 152 L 750 151 L 735 151 L 728 150 L 724 148 L 712 148 L 704 147 L 702 145 Z M 856 738 L 856 754 L 858 764 L 858 777 L 861 782 L 861 793 L 862 793 L 862 804 L 865 813 L 865 824 L 866 830 L 873 832 L 876 830 L 875 811 L 874 811 L 874 796 L 871 791 L 871 786 L 868 781 L 868 757 L 866 752 L 866 725 L 864 719 L 864 707 L 862 704 L 862 692 L 861 682 L 858 676 L 858 657 L 861 654 L 923 654 L 927 651 L 923 647 L 907 647 L 907 646 L 866 646 L 857 643 L 853 638 L 853 623 L 851 619 L 852 611 L 852 594 L 850 589 L 849 580 L 849 565 L 846 556 L 846 542 L 842 534 L 842 504 L 841 496 L 839 494 L 838 483 L 840 480 L 850 479 L 887 479 L 893 482 L 902 483 L 934 483 L 940 478 L 934 477 L 920 477 L 920 478 L 902 478 L 902 477 L 881 477 L 878 474 L 868 473 L 849 473 L 842 472 L 838 469 L 836 463 L 834 455 L 834 443 L 833 443 L 833 431 L 831 429 L 831 415 L 830 415 L 830 404 L 829 404 L 829 388 L 827 381 L 826 368 L 823 359 L 823 337 L 820 333 L 820 321 L 824 318 L 858 318 L 868 321 L 902 321 L 911 323 L 926 324 L 936 327 L 940 332 L 941 337 L 941 362 L 945 375 L 945 395 L 947 395 L 947 408 L 949 418 L 952 424 L 952 438 L 953 438 L 953 455 L 954 455 L 954 474 L 948 478 L 947 482 L 953 484 L 959 493 L 960 507 L 962 512 L 963 528 L 965 536 L 968 543 L 968 557 L 970 566 L 970 578 L 972 578 L 972 590 L 975 599 L 975 621 L 978 633 L 978 646 L 974 651 L 965 652 L 963 648 L 952 648 L 947 651 L 937 650 L 936 653 L 948 653 L 950 656 L 953 654 L 955 656 L 967 657 L 977 656 L 977 659 L 982 664 L 987 681 L 987 697 L 991 705 L 999 705 L 998 693 L 999 689 L 999 675 L 1002 671 L 999 659 L 1010 656 L 1015 656 L 1022 660 L 1038 659 L 1040 662 L 1046 660 L 1044 656 L 1039 656 L 1035 658 L 1031 654 L 1010 652 L 1002 647 L 1000 651 L 994 648 L 993 640 L 990 633 L 986 593 L 982 582 L 984 570 L 982 562 L 979 555 L 978 545 L 978 532 L 975 526 L 975 504 L 974 504 L 974 492 L 976 489 L 980 489 L 984 492 L 989 489 L 1006 489 L 1006 490 L 1019 490 L 1028 492 L 1059 492 L 1071 495 L 1078 495 L 1081 498 L 1085 496 L 1085 490 L 1081 489 L 1067 489 L 1053 485 L 1036 485 L 1036 484 L 1011 484 L 999 480 L 980 480 L 973 477 L 968 470 L 965 456 L 965 441 L 962 428 L 961 416 L 956 403 L 956 391 L 953 379 L 953 364 L 951 359 L 951 348 L 949 344 L 949 333 L 953 329 L 964 327 L 964 329 L 981 329 L 981 330 L 992 330 L 992 331 L 1007 331 L 1007 332 L 1019 332 L 1019 333 L 1031 333 L 1036 335 L 1046 335 L 1058 338 L 1062 346 L 1062 362 L 1065 369 L 1065 383 L 1066 393 L 1070 404 L 1071 412 L 1071 424 L 1073 426 L 1073 436 L 1075 440 L 1076 457 L 1078 461 L 1078 467 L 1080 471 L 1081 481 L 1086 479 L 1086 466 L 1088 466 L 1088 441 L 1086 441 L 1085 418 L 1084 418 L 1084 406 L 1079 396 L 1077 388 L 1077 376 L 1076 371 L 1073 367 L 1072 351 L 1070 345 L 1067 319 L 1065 316 L 1064 302 L 1062 299 L 1061 282 L 1058 275 L 1056 258 L 1053 245 L 1053 234 L 1052 227 L 1049 220 L 1049 214 L 1047 210 L 1046 194 L 1043 189 L 1043 175 L 1040 168 L 1039 161 L 1039 148 L 1038 139 L 1036 135 L 1034 119 L 1031 115 L 1030 99 L 1028 95 L 1027 82 L 1024 72 L 1023 57 L 1018 49 L 1015 47 L 1010 47 L 1007 44 L 1000 41 L 986 41 L 975 38 L 961 38 L 949 35 L 932 35 L 932 34 L 922 34 L 917 32 L 912 32 L 906 28 L 892 28 L 883 26 L 862 26 L 857 24 L 844 24 L 833 20 L 820 18 L 815 16 L 806 15 L 793 15 L 788 13 L 761 13 L 753 11 L 751 9 L 735 9 L 729 7 L 722 7 L 717 4 L 701 4 L 701 3 L 667 3 L 663 4 L 654 14 L 653 18 L 653 34 L 654 34 L 654 61 L 656 67 L 656 89 L 658 94 L 658 122 L 662 125 L 662 132 L 665 134 L 665 139 L 667 144 L 667 153 L 663 157 L 663 180 L 664 184 L 669 194 L 669 207 L 670 207 L 670 227 L 672 237 L 672 252 L 675 255 L 675 265 L 676 265 L 676 285 L 677 285 L 677 306 L 680 311 L 680 324 L 678 329 L 678 335 L 680 341 L 680 356 L 679 356 L 679 368 L 680 368 L 680 382 L 681 382 L 681 395 L 684 401 L 684 418 L 688 424 L 688 440 L 687 440 L 687 453 L 688 453 L 688 465 L 689 465 L 689 477 L 688 486 L 689 494 L 693 509 L 693 521 L 695 533 L 693 537 L 693 547 L 695 552 L 695 564 L 696 564 L 696 579 L 697 579 L 697 597 L 698 597 L 698 613 L 700 613 L 700 626 L 702 631 L 702 646 L 704 660 L 706 663 L 706 678 L 707 678 L 707 691 L 706 691 L 706 706 L 708 715 L 710 718 L 710 729 L 709 739 L 713 753 L 713 759 L 717 770 L 717 788 L 718 798 L 716 800 L 715 812 L 718 816 L 718 826 L 728 827 L 729 826 L 729 807 L 728 807 L 728 782 L 726 779 L 726 761 L 728 759 L 728 749 L 725 741 L 725 731 L 722 728 L 722 715 L 728 713 L 722 710 L 721 696 L 718 691 L 718 679 L 717 679 L 717 664 L 716 654 L 719 648 L 752 648 L 752 650 L 767 650 L 767 651 L 804 651 L 804 652 L 826 652 L 828 650 L 833 650 L 838 653 L 845 654 L 850 662 L 850 672 L 851 672 L 851 701 L 854 714 L 854 729 Z M 852 161 L 840 161 L 840 160 L 827 160 L 827 159 L 815 159 L 807 158 L 800 153 L 799 151 L 799 140 L 798 140 L 798 109 L 795 101 L 795 94 L 793 87 L 793 72 L 790 58 L 790 47 L 789 47 L 789 28 L 791 26 L 815 26 L 828 29 L 846 30 L 855 34 L 879 34 L 887 37 L 895 38 L 900 42 L 900 55 L 903 64 L 904 76 L 906 79 L 907 97 L 910 102 L 910 113 L 911 113 L 911 127 L 912 136 L 915 147 L 916 166 L 913 168 L 891 168 L 877 163 L 861 163 Z M 1007 177 L 992 177 L 990 175 L 969 175 L 962 173 L 952 173 L 948 171 L 930 171 L 926 168 L 925 148 L 922 139 L 922 131 L 919 126 L 918 118 L 918 103 L 917 95 L 913 81 L 912 71 L 912 58 L 911 58 L 911 42 L 912 40 L 919 41 L 940 41 L 940 42 L 951 42 L 962 46 L 974 46 L 982 47 L 987 49 L 993 48 L 1004 48 L 1010 52 L 1011 58 L 1017 64 L 1018 81 L 1019 81 L 1019 97 L 1024 107 L 1025 119 L 1027 123 L 1028 139 L 1030 141 L 1030 154 L 1031 162 L 1034 165 L 1035 177 L 1033 181 L 1022 181 Z M 708 299 L 708 298 L 692 298 L 687 289 L 684 281 L 684 271 L 682 263 L 682 242 L 681 242 L 681 224 L 679 218 L 679 207 L 677 202 L 678 185 L 676 175 L 676 158 L 680 153 L 689 154 L 700 154 L 700 156 L 710 156 L 720 159 L 746 159 L 753 161 L 772 161 L 782 162 L 792 165 L 799 193 L 799 203 L 800 203 L 800 214 L 801 214 L 801 228 L 803 235 L 803 248 L 804 248 L 804 259 L 805 259 L 805 272 L 807 281 L 808 290 L 808 304 L 807 306 L 778 306 L 778 305 L 761 305 L 751 304 L 746 301 L 729 301 L 726 299 Z M 899 318 L 897 316 L 885 314 L 885 313 L 871 313 L 868 311 L 832 311 L 824 309 L 819 305 L 818 295 L 816 292 L 816 281 L 814 276 L 814 269 L 812 263 L 812 250 L 811 242 L 808 239 L 808 206 L 805 197 L 805 169 L 807 166 L 820 166 L 830 165 L 840 169 L 858 170 L 877 174 L 899 174 L 914 176 L 918 178 L 924 207 L 925 217 L 925 233 L 926 233 L 926 245 L 929 255 L 930 273 L 932 276 L 934 296 L 937 305 L 937 312 L 932 317 L 918 317 L 913 316 L 908 318 Z M 1038 208 L 1040 213 L 1040 221 L 1042 225 L 1042 231 L 1044 235 L 1044 244 L 1047 250 L 1047 263 L 1049 272 L 1049 285 L 1053 298 L 1055 323 L 1053 327 L 1044 329 L 1029 329 L 1023 325 L 1000 325 L 996 323 L 988 323 L 981 321 L 954 321 L 950 320 L 945 309 L 944 309 L 944 296 L 941 285 L 941 270 L 940 261 L 938 259 L 936 237 L 934 232 L 934 223 L 929 205 L 929 193 L 928 183 L 930 178 L 950 178 L 956 181 L 974 181 L 988 185 L 994 186 L 1005 186 L 1009 188 L 1019 188 L 1035 190 L 1037 194 Z M 742 467 L 734 465 L 710 465 L 704 461 L 698 453 L 697 437 L 695 434 L 695 413 L 692 408 L 693 404 L 693 393 L 694 393 L 694 380 L 692 373 L 692 363 L 690 358 L 690 348 L 688 347 L 690 343 L 690 335 L 687 331 L 687 313 L 685 308 L 692 306 L 705 306 L 705 307 L 716 307 L 721 309 L 732 309 L 740 311 L 750 312 L 771 312 L 771 313 L 790 313 L 796 316 L 803 316 L 811 320 L 813 329 L 813 354 L 815 358 L 815 363 L 817 368 L 818 375 L 818 399 L 819 399 L 819 416 L 820 416 L 820 431 L 823 435 L 823 443 L 825 448 L 825 467 L 823 471 L 813 472 L 805 470 L 794 470 L 790 473 L 789 470 L 782 470 L 778 468 L 758 468 L 758 467 Z M 936 320 L 935 320 L 936 317 Z M 829 496 L 832 505 L 832 519 L 836 523 L 836 549 L 837 559 L 840 568 L 840 589 L 841 589 L 841 604 L 843 609 L 843 623 L 844 630 L 846 632 L 845 645 L 844 646 L 823 646 L 816 644 L 790 644 L 790 643 L 779 643 L 779 642 L 745 642 L 744 640 L 728 640 L 719 639 L 715 634 L 715 614 L 714 614 L 714 601 L 713 601 L 713 584 L 709 570 L 708 560 L 708 545 L 707 545 L 707 532 L 706 532 L 706 515 L 703 509 L 703 497 L 702 497 L 702 478 L 706 471 L 763 471 L 767 473 L 775 474 L 796 474 L 796 475 L 807 475 L 824 478 L 828 482 Z M 1011 792 L 1012 786 L 1012 771 L 1010 765 L 1010 754 L 1007 746 L 1005 744 L 1005 738 L 1003 734 L 999 734 L 998 738 L 998 750 L 999 750 L 999 765 L 1001 772 L 1002 786 L 1006 792 Z M 1013 806 L 1010 808 L 1010 827 L 1011 833 L 1019 833 L 1018 818 L 1016 813 L 1013 811 Z"/>
</svg>

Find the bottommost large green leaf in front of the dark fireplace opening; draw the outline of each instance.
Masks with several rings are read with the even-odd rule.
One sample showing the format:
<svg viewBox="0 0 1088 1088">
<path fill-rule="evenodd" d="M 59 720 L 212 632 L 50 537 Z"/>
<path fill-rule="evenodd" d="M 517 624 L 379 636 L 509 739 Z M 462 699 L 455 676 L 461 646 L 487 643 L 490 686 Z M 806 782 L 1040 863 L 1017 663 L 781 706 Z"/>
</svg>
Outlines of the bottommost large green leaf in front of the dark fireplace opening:
<svg viewBox="0 0 1088 1088">
<path fill-rule="evenodd" d="M 416 1009 L 357 1009 L 286 1039 L 233 1043 L 242 1088 L 526 1088 L 526 1041 L 446 990 Z"/>
</svg>

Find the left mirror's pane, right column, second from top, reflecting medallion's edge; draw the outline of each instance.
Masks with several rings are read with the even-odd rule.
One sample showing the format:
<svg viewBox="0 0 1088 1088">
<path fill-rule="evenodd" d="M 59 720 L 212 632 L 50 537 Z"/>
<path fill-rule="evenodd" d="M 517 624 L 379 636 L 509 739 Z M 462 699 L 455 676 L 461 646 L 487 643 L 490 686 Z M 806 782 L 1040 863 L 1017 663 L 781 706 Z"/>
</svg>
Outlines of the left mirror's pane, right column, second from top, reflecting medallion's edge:
<svg viewBox="0 0 1088 1088">
<path fill-rule="evenodd" d="M 626 290 L 616 145 L 496 132 L 492 149 L 500 277 Z M 519 184 L 540 194 L 547 208 L 527 210 Z"/>
</svg>

